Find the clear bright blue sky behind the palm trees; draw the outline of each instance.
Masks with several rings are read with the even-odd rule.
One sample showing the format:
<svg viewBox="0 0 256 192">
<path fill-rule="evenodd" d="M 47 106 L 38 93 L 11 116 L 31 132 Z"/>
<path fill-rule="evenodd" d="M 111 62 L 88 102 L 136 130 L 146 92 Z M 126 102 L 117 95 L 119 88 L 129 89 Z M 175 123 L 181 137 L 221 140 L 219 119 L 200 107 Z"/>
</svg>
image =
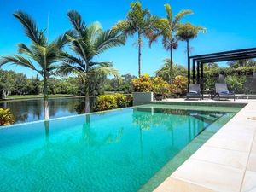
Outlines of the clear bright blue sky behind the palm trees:
<svg viewBox="0 0 256 192">
<path fill-rule="evenodd" d="M 49 26 L 49 40 L 53 40 L 71 28 L 67 20 L 68 10 L 79 11 L 87 25 L 99 21 L 104 29 L 108 29 L 118 20 L 125 19 L 130 3 L 130 0 L 0 0 L 0 56 L 16 54 L 18 43 L 31 44 L 13 16 L 17 10 L 31 15 L 40 28 Z M 191 41 L 191 55 L 256 47 L 255 0 L 141 0 L 141 3 L 152 15 L 160 17 L 166 17 L 165 3 L 171 4 L 174 15 L 182 9 L 193 10 L 194 15 L 186 16 L 182 21 L 204 26 L 207 33 L 199 34 Z M 112 61 L 119 73 L 137 75 L 137 47 L 133 45 L 136 40 L 136 37 L 128 38 L 125 46 L 108 49 L 95 60 Z M 154 75 L 169 55 L 162 48 L 160 39 L 150 49 L 144 39 L 142 73 Z M 186 66 L 184 42 L 179 42 L 173 59 Z M 6 65 L 2 68 L 26 73 L 27 77 L 36 75 L 25 67 Z"/>
</svg>

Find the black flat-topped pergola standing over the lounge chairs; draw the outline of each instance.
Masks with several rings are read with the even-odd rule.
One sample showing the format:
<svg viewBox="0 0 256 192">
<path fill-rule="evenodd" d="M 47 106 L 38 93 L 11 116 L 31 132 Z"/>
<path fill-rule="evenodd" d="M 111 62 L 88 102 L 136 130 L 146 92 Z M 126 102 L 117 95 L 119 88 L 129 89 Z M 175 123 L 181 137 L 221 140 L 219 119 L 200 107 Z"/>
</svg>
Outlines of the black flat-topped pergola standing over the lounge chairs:
<svg viewBox="0 0 256 192">
<path fill-rule="evenodd" d="M 253 59 L 256 58 L 256 48 L 251 49 L 237 49 L 206 55 L 193 55 L 188 58 L 188 90 L 190 84 L 190 70 L 192 63 L 192 82 L 195 84 L 201 84 L 201 90 L 204 90 L 204 69 L 203 65 L 211 62 L 220 61 L 236 61 L 241 59 Z M 196 66 L 196 77 L 195 77 Z"/>
</svg>

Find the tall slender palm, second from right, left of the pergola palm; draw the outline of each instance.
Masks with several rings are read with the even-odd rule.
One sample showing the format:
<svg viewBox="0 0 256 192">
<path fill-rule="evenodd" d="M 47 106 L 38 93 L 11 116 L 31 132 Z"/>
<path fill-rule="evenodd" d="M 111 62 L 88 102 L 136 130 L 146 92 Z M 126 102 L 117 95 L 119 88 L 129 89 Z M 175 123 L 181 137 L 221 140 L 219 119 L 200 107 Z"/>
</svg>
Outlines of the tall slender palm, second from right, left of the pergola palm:
<svg viewBox="0 0 256 192">
<path fill-rule="evenodd" d="M 190 9 L 185 9 L 177 13 L 177 15 L 172 15 L 172 8 L 170 4 L 165 4 L 166 8 L 166 18 L 161 18 L 157 22 L 157 27 L 159 29 L 159 32 L 155 33 L 154 36 L 152 36 L 150 40 L 150 44 L 156 40 L 156 38 L 162 36 L 162 44 L 163 47 L 170 51 L 170 60 L 171 60 L 171 67 L 169 67 L 169 81 L 172 83 L 172 68 L 173 68 L 173 49 L 177 49 L 177 27 L 180 25 L 181 20 L 185 15 L 193 14 L 193 12 Z"/>
</svg>

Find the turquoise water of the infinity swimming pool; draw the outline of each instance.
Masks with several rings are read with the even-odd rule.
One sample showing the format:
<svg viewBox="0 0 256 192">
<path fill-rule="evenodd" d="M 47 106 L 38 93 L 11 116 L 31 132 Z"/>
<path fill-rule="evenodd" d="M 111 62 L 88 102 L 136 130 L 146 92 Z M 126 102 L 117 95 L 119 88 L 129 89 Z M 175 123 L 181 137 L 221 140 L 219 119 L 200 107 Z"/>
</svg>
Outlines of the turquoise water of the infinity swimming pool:
<svg viewBox="0 0 256 192">
<path fill-rule="evenodd" d="M 187 158 L 172 163 L 188 144 L 240 110 L 173 108 L 145 105 L 0 129 L 0 191 L 150 191 Z"/>
</svg>

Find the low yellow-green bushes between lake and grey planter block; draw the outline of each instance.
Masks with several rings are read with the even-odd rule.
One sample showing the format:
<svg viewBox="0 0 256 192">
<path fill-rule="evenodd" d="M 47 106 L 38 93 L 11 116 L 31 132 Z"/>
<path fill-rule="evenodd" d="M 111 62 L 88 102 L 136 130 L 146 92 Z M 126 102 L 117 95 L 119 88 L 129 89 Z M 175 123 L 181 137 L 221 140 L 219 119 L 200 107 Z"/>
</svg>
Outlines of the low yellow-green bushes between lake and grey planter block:
<svg viewBox="0 0 256 192">
<path fill-rule="evenodd" d="M 104 111 L 113 108 L 125 108 L 131 106 L 131 96 L 123 94 L 101 95 L 96 99 L 96 111 Z"/>
</svg>

